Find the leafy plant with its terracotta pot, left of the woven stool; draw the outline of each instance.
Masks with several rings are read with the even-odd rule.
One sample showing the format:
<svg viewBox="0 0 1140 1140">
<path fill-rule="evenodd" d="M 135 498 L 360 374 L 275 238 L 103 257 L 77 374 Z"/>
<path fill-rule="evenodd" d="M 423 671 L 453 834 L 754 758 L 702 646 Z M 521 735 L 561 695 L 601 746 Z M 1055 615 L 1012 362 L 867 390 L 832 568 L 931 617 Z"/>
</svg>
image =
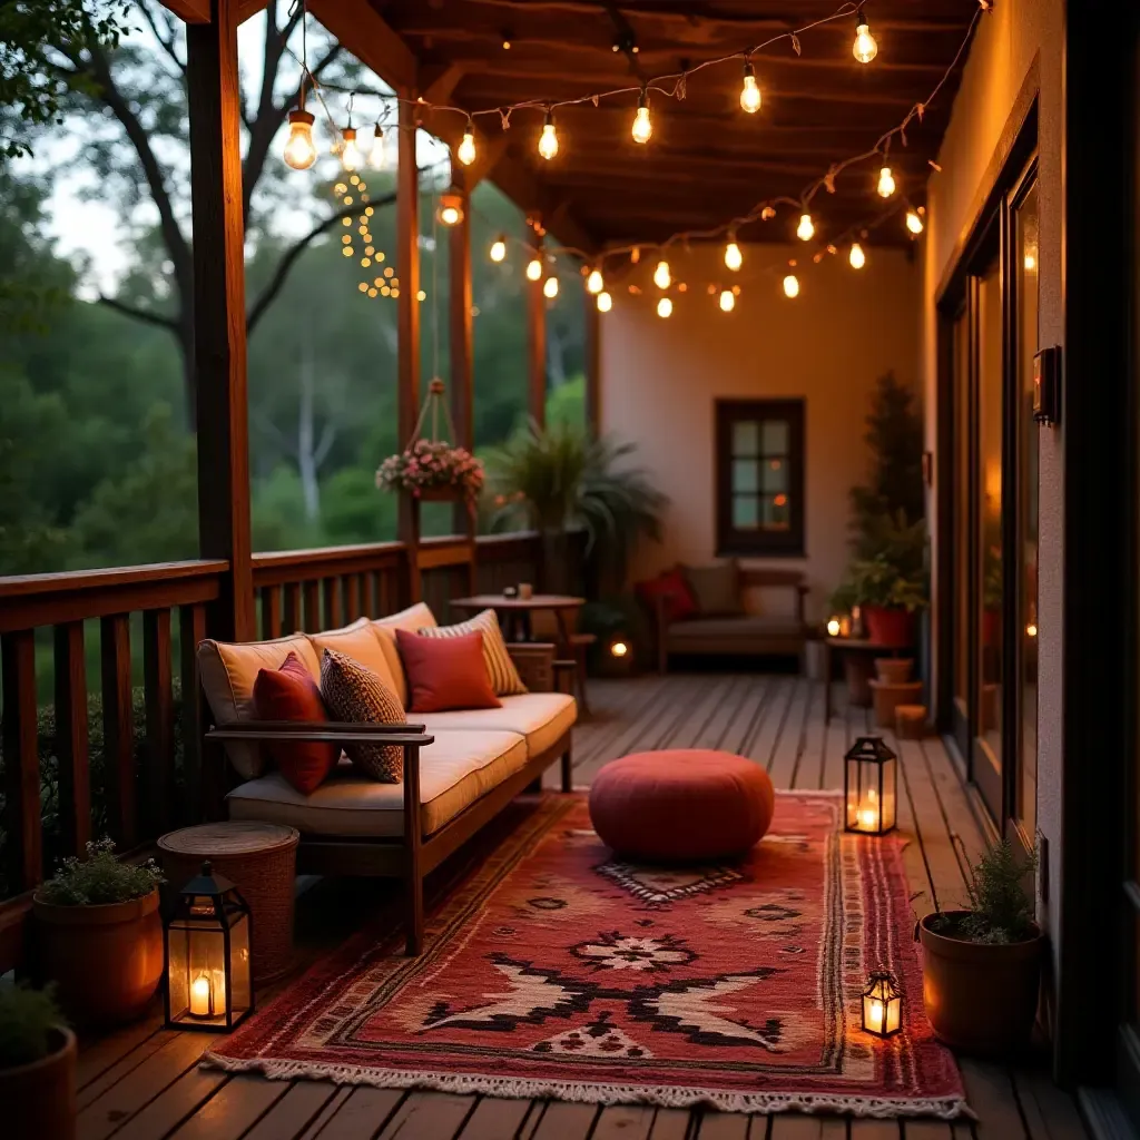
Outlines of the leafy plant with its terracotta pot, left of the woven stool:
<svg viewBox="0 0 1140 1140">
<path fill-rule="evenodd" d="M 122 862 L 103 839 L 87 845 L 87 858 L 64 860 L 35 891 L 38 969 L 75 1024 L 128 1021 L 154 996 L 163 968 L 160 882 L 153 861 Z"/>
</svg>

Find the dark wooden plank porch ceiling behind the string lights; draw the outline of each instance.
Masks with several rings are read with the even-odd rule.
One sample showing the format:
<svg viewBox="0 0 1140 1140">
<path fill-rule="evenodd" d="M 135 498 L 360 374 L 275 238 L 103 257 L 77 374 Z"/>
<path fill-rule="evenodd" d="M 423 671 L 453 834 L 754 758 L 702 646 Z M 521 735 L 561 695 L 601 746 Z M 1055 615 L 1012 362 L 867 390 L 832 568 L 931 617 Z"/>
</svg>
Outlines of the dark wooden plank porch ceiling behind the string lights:
<svg viewBox="0 0 1140 1140">
<path fill-rule="evenodd" d="M 832 15 L 836 0 L 315 0 L 314 13 L 327 22 L 334 10 L 370 8 L 368 21 L 394 33 L 415 70 L 447 89 L 443 98 L 467 111 L 486 111 L 528 99 L 560 100 L 637 84 L 682 71 L 703 59 L 752 47 L 788 28 Z M 518 111 L 491 173 L 532 209 L 538 199 L 561 206 L 577 236 L 591 245 L 654 242 L 678 230 L 711 228 L 748 212 L 758 201 L 798 198 L 828 168 L 869 150 L 925 100 L 962 42 L 975 0 L 868 0 L 866 18 L 879 43 L 870 65 L 852 56 L 854 17 L 806 32 L 803 55 L 787 40 L 754 57 L 764 105 L 756 115 L 741 112 L 742 64 L 709 67 L 687 82 L 684 100 L 652 99 L 654 135 L 648 146 L 630 141 L 636 98 L 614 98 L 561 108 L 556 125 L 561 149 L 553 162 L 536 153 L 542 127 L 538 109 Z M 361 32 L 364 30 L 361 28 Z M 625 41 L 619 50 L 616 43 Z M 364 36 L 345 35 L 360 51 Z M 508 40 L 510 49 L 504 49 Z M 630 50 L 637 44 L 637 52 Z M 366 59 L 367 62 L 367 59 Z M 383 74 L 383 72 L 381 72 Z M 391 82 L 398 78 L 384 75 Z M 959 72 L 938 99 L 907 130 L 907 146 L 896 141 L 890 165 L 899 188 L 913 202 L 925 197 L 928 160 L 935 156 L 950 117 Z M 462 128 L 451 114 L 450 129 Z M 447 131 L 446 123 L 442 124 Z M 499 135 L 492 117 L 480 120 L 489 140 Z M 815 203 L 819 236 L 871 221 L 882 205 L 874 196 L 874 160 L 842 173 L 836 193 Z M 522 182 L 521 187 L 518 185 Z M 767 223 L 757 222 L 748 241 L 787 241 L 791 209 Z M 563 225 L 563 229 L 565 229 Z M 571 241 L 559 234 L 563 241 Z M 882 241 L 904 244 L 902 225 L 887 226 Z"/>
</svg>

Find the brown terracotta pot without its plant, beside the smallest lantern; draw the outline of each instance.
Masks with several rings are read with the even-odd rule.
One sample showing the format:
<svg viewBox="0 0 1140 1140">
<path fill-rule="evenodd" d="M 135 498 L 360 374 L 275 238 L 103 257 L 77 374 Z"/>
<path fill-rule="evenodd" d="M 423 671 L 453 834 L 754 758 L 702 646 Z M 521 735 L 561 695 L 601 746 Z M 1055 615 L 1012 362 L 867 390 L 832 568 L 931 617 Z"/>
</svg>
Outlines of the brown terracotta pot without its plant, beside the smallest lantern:
<svg viewBox="0 0 1140 1140">
<path fill-rule="evenodd" d="M 969 911 L 944 911 L 951 922 Z M 1041 985 L 1043 938 L 1035 926 L 1026 942 L 991 946 L 963 942 L 919 923 L 922 999 L 934 1032 L 947 1045 L 984 1056 L 1024 1048 L 1033 1031 Z"/>
</svg>

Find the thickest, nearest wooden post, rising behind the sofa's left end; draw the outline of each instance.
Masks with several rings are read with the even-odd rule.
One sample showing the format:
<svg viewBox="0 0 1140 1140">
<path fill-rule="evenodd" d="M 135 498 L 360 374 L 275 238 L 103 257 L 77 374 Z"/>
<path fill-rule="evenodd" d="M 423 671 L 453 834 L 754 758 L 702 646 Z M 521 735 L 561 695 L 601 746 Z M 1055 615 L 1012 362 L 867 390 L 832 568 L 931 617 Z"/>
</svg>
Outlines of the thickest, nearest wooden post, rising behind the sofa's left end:
<svg viewBox="0 0 1140 1140">
<path fill-rule="evenodd" d="M 210 24 L 186 28 L 194 222 L 194 355 L 198 422 L 198 544 L 227 559 L 210 633 L 255 636 L 245 378 L 237 2 L 210 0 Z"/>
</svg>

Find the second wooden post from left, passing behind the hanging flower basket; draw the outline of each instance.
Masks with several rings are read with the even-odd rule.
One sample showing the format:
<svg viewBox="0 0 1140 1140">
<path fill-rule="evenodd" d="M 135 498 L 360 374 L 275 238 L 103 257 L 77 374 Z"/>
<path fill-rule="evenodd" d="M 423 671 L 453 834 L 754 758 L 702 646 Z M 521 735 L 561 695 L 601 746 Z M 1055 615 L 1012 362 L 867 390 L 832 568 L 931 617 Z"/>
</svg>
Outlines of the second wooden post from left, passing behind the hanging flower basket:
<svg viewBox="0 0 1140 1140">
<path fill-rule="evenodd" d="M 396 267 L 400 278 L 397 298 L 397 431 L 402 448 L 415 430 L 420 414 L 420 170 L 416 166 L 416 111 L 412 90 L 399 92 L 399 164 L 396 172 Z M 400 496 L 399 538 L 407 547 L 406 602 L 418 602 L 423 594 L 417 552 L 420 547 L 420 505 Z"/>
</svg>

